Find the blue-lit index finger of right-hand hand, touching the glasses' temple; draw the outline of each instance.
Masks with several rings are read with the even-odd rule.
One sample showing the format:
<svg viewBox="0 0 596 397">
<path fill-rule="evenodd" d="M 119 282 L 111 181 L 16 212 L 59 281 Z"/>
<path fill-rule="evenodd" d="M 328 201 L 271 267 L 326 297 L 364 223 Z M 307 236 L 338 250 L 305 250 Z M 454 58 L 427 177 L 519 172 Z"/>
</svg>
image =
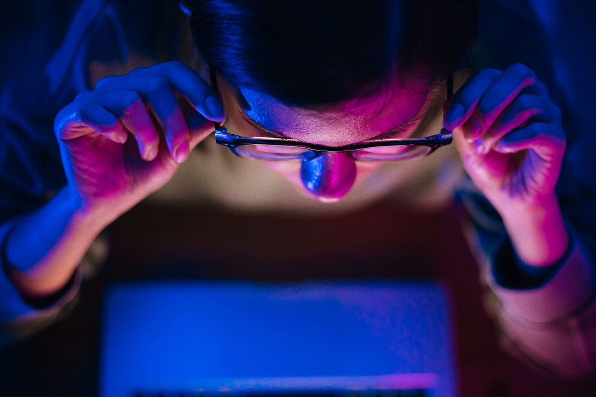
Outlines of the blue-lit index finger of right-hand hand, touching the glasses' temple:
<svg viewBox="0 0 596 397">
<path fill-rule="evenodd" d="M 443 117 L 443 127 L 448 130 L 454 130 L 456 127 L 464 124 L 476 105 L 480 101 L 483 93 L 488 87 L 501 75 L 501 71 L 495 69 L 483 69 L 454 93 L 453 98 L 445 107 L 445 117 Z"/>
</svg>

